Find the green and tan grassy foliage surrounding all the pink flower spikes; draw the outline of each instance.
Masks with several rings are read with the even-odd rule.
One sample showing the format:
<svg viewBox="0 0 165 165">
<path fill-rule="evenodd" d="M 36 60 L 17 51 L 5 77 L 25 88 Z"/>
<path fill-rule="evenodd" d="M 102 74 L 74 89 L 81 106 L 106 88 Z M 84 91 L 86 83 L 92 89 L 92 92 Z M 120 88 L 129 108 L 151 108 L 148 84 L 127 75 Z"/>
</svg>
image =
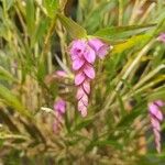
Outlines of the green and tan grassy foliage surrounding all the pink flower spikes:
<svg viewBox="0 0 165 165">
<path fill-rule="evenodd" d="M 1 0 L 1 162 L 163 165 L 164 143 L 156 154 L 147 102 L 165 100 L 165 46 L 156 40 L 165 31 L 164 10 L 164 0 Z M 113 50 L 95 66 L 82 119 L 68 44 L 87 34 Z M 57 69 L 69 77 L 56 79 Z M 58 97 L 67 112 L 54 133 L 53 111 L 42 107 L 53 109 Z"/>
</svg>

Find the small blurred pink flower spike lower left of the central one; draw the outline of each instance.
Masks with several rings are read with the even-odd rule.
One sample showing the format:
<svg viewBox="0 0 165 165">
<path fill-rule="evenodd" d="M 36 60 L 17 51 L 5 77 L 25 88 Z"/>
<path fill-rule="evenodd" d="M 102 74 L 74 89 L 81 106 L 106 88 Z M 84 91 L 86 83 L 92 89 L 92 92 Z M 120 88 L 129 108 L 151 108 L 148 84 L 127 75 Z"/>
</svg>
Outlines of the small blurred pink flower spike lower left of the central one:
<svg viewBox="0 0 165 165">
<path fill-rule="evenodd" d="M 56 121 L 53 124 L 54 132 L 57 132 L 61 128 L 61 124 L 63 123 L 63 114 L 66 112 L 66 101 L 63 99 L 58 99 L 54 103 L 54 111 Z"/>
</svg>

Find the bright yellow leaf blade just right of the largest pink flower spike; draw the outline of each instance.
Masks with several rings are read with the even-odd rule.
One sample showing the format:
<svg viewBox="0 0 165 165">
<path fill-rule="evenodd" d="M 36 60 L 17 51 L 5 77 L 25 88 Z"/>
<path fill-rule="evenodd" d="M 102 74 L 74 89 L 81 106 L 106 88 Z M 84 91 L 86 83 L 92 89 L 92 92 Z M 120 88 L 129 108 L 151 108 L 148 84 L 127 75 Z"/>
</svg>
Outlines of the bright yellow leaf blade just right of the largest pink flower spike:
<svg viewBox="0 0 165 165">
<path fill-rule="evenodd" d="M 123 51 L 131 48 L 135 45 L 139 45 L 140 43 L 148 40 L 150 37 L 151 37 L 151 35 L 148 35 L 148 34 L 133 36 L 124 43 L 114 45 L 112 53 L 114 53 L 114 54 L 116 53 L 122 53 Z"/>
</svg>

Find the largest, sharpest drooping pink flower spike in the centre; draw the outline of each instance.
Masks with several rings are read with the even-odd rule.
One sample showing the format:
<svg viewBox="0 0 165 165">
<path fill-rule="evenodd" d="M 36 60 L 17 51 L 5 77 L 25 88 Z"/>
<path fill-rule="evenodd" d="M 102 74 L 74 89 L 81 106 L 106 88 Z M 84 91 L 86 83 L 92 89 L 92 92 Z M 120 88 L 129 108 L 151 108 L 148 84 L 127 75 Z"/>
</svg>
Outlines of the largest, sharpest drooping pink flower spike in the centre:
<svg viewBox="0 0 165 165">
<path fill-rule="evenodd" d="M 102 59 L 108 50 L 109 45 L 98 38 L 76 40 L 69 46 L 77 87 L 76 99 L 78 100 L 78 110 L 82 117 L 87 116 L 90 81 L 96 76 L 94 63 L 97 56 Z"/>
</svg>

